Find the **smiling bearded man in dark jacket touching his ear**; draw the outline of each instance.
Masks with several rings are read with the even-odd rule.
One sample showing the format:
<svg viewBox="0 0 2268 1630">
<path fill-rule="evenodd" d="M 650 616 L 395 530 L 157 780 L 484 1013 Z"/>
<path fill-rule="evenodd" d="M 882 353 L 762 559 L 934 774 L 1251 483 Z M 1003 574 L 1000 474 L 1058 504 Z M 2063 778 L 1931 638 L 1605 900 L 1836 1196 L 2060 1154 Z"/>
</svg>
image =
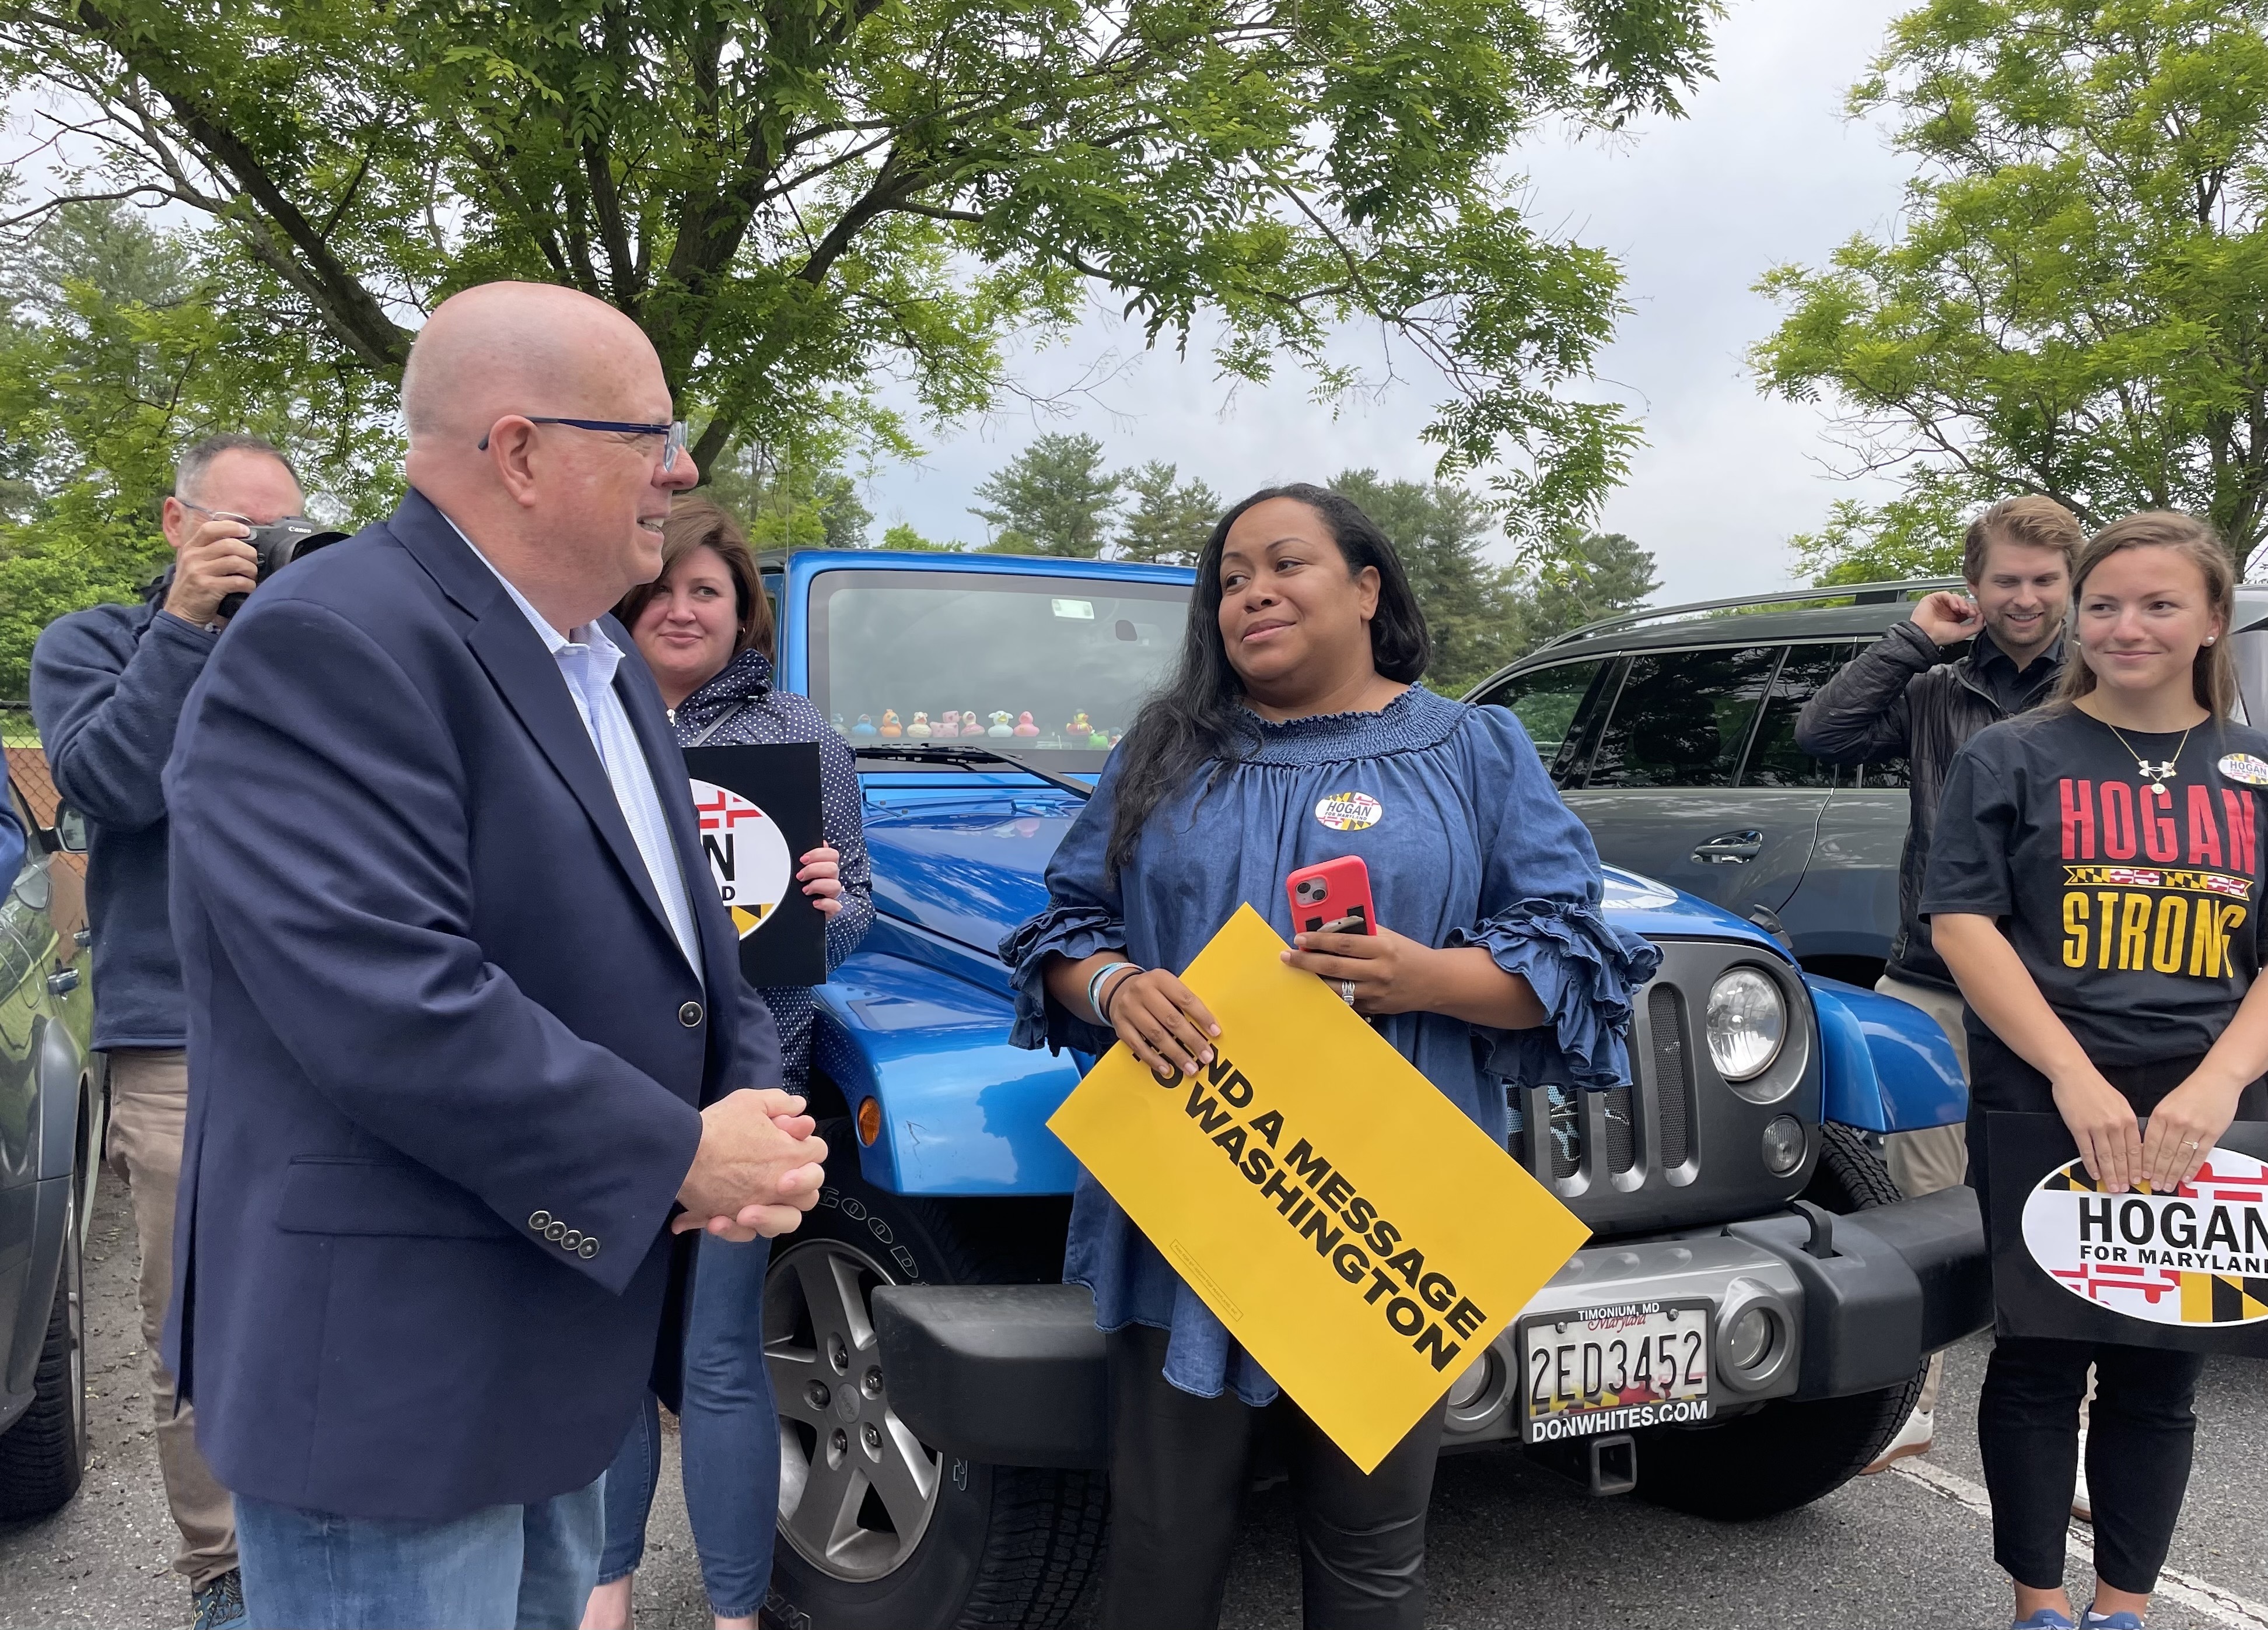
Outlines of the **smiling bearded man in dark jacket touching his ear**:
<svg viewBox="0 0 2268 1630">
<path fill-rule="evenodd" d="M 1921 873 L 1937 827 L 1937 793 L 1953 755 L 1989 723 L 2037 707 L 2064 671 L 2064 619 L 2071 560 L 2082 542 L 2071 510 L 2053 499 L 2005 499 L 1969 526 L 1962 576 L 1969 594 L 1937 592 L 1914 614 L 1862 651 L 1803 705 L 1796 746 L 1830 764 L 1903 757 L 1912 791 L 1905 855 L 1898 861 L 1898 939 L 1873 986 L 1937 1020 L 1969 1070 L 1962 993 L 1930 948 L 1930 925 L 1914 916 Z M 1969 655 L 1944 662 L 1944 646 L 1971 639 Z M 1969 1172 L 1962 1127 L 1894 1134 L 1889 1174 L 1907 1195 L 1935 1195 Z M 1930 1360 L 1921 1401 L 1869 1471 L 1928 1453 L 1944 1358 Z"/>
</svg>

